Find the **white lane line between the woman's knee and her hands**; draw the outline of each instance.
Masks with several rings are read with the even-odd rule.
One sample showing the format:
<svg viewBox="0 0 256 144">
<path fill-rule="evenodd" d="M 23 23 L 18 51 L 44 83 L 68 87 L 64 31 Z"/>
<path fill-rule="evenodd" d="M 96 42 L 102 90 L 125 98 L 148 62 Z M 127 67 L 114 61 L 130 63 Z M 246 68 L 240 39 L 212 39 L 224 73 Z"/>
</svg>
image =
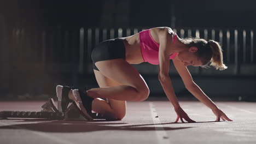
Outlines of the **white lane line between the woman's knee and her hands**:
<svg viewBox="0 0 256 144">
<path fill-rule="evenodd" d="M 153 102 L 149 102 L 149 107 L 150 107 L 150 112 L 151 112 L 151 116 L 153 119 L 153 123 L 154 124 L 158 124 L 158 127 L 155 127 L 155 133 L 156 136 L 158 137 L 158 143 L 170 143 L 170 139 L 167 135 L 167 133 L 165 132 L 165 129 L 162 127 L 162 125 L 160 124 L 161 121 L 158 117 L 158 113 L 155 110 L 155 107 L 153 105 Z"/>
</svg>

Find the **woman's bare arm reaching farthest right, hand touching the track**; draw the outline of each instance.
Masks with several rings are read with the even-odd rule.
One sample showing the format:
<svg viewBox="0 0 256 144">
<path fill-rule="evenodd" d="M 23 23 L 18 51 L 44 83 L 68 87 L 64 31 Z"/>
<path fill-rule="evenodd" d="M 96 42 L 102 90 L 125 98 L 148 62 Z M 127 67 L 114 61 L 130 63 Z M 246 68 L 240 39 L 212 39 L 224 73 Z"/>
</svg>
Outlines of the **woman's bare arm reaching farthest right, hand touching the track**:
<svg viewBox="0 0 256 144">
<path fill-rule="evenodd" d="M 173 60 L 173 64 L 179 75 L 182 77 L 184 85 L 188 89 L 188 91 L 213 111 L 213 113 L 216 115 L 216 121 L 220 121 L 220 118 L 222 118 L 223 121 L 232 121 L 225 115 L 224 112 L 222 112 L 222 110 L 218 108 L 216 104 L 213 103 L 213 101 L 209 97 L 207 97 L 205 93 L 203 93 L 202 89 L 196 85 L 196 83 L 193 81 L 191 74 L 189 73 L 188 68 L 185 67 L 182 62 Z"/>
</svg>

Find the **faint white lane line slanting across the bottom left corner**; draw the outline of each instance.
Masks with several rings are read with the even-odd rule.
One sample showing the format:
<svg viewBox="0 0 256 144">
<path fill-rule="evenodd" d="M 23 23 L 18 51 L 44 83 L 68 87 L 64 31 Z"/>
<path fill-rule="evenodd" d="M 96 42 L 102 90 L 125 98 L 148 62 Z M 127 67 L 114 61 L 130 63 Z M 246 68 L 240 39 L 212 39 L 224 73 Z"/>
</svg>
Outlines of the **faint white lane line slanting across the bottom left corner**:
<svg viewBox="0 0 256 144">
<path fill-rule="evenodd" d="M 65 143 L 65 144 L 72 144 L 73 142 L 68 142 L 66 140 L 63 140 L 63 139 L 59 139 L 55 136 L 51 136 L 50 134 L 46 134 L 46 133 L 42 133 L 42 132 L 38 132 L 38 131 L 32 131 L 32 130 L 28 130 L 26 128 L 23 128 L 23 127 L 19 127 L 17 125 L 11 125 L 11 124 L 7 124 L 7 123 L 2 123 L 0 122 L 1 125 L 5 125 L 5 126 L 9 126 L 9 127 L 13 127 L 13 128 L 16 128 L 16 129 L 25 129 L 27 131 L 30 131 L 31 133 L 33 134 L 36 134 L 36 135 L 39 135 L 39 136 L 42 136 L 42 137 L 45 137 L 46 139 L 51 139 L 55 142 L 58 142 L 58 143 Z"/>
</svg>

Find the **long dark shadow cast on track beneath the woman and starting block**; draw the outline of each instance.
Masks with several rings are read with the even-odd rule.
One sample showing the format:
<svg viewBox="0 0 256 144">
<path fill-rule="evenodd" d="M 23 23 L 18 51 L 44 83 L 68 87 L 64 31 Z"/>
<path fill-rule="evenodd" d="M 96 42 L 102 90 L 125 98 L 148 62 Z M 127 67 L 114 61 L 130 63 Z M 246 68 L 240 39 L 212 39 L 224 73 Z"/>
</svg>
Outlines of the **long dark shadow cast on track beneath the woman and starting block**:
<svg viewBox="0 0 256 144">
<path fill-rule="evenodd" d="M 178 124 L 178 123 L 159 123 L 159 124 L 135 124 L 127 125 L 127 123 L 119 123 L 118 121 L 52 121 L 48 119 L 12 119 L 17 122 L 38 122 L 26 124 L 8 124 L 0 126 L 0 129 L 28 129 L 34 131 L 53 132 L 53 133 L 78 133 L 103 130 L 132 130 L 132 131 L 148 131 L 158 129 L 157 125 Z M 20 121 L 22 120 L 22 121 Z M 120 126 L 123 124 L 123 126 Z M 126 124 L 126 125 L 125 125 Z M 0 125 L 2 125 L 0 123 Z M 115 126 L 118 125 L 118 126 Z M 150 127 L 154 126 L 154 127 Z M 145 127 L 149 126 L 149 127 Z M 193 127 L 162 127 L 164 130 L 188 129 Z"/>
</svg>

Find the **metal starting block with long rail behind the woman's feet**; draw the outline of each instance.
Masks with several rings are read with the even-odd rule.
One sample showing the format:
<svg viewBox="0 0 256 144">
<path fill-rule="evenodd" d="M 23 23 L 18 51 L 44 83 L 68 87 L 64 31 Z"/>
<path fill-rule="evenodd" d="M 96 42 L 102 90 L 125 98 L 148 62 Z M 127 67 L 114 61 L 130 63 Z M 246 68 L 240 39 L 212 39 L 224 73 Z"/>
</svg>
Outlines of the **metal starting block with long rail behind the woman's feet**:
<svg viewBox="0 0 256 144">
<path fill-rule="evenodd" d="M 88 121 L 84 118 L 73 102 L 66 110 L 66 112 L 60 112 L 55 106 L 54 100 L 49 99 L 42 105 L 42 110 L 36 111 L 0 111 L 0 119 L 7 118 L 44 118 L 44 119 L 57 119 L 66 121 Z M 99 113 L 92 113 L 95 119 L 105 119 L 98 115 Z"/>
</svg>

